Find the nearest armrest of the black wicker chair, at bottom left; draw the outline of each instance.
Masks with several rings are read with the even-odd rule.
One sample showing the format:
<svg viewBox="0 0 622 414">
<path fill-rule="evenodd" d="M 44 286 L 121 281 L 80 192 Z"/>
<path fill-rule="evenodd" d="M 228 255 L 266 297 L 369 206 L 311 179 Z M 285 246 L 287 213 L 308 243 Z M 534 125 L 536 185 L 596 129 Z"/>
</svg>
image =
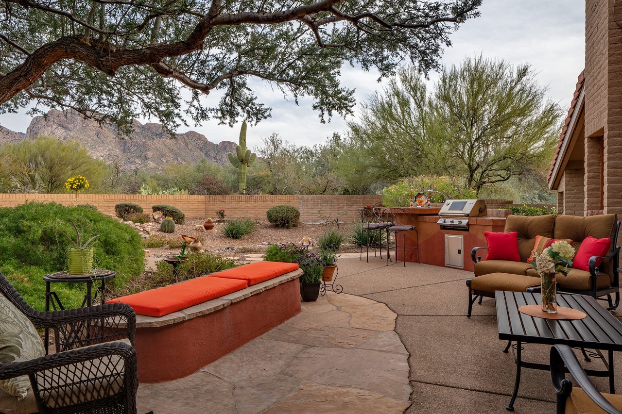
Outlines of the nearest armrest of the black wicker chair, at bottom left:
<svg viewBox="0 0 622 414">
<path fill-rule="evenodd" d="M 134 347 L 121 341 L 58 352 L 23 362 L 0 363 L 0 380 L 30 375 L 38 371 L 53 369 L 62 366 L 74 365 L 79 362 L 90 361 L 108 355 L 119 355 L 129 364 L 136 367 L 136 351 Z"/>
</svg>

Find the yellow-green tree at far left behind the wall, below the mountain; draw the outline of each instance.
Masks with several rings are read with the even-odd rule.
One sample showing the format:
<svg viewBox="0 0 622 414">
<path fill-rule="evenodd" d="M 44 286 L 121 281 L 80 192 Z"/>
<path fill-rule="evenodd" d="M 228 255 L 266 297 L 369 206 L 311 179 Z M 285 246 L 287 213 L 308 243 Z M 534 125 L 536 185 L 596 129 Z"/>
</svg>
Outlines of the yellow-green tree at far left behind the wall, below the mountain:
<svg viewBox="0 0 622 414">
<path fill-rule="evenodd" d="M 65 181 L 72 175 L 86 177 L 90 193 L 103 193 L 109 173 L 106 163 L 96 160 L 77 140 L 61 141 L 54 137 L 38 137 L 0 147 L 2 159 L 11 166 L 11 180 L 22 191 L 63 193 Z M 0 161 L 1 163 L 1 161 Z M 0 171 L 2 167 L 0 165 Z M 1 176 L 0 172 L 0 176 Z"/>
</svg>

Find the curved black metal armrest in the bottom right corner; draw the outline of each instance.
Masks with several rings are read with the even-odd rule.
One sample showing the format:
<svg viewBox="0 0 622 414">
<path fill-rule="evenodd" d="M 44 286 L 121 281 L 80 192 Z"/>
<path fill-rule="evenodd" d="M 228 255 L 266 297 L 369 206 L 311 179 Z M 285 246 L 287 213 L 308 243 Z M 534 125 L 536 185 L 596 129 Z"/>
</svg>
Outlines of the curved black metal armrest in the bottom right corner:
<svg viewBox="0 0 622 414">
<path fill-rule="evenodd" d="M 577 385 L 583 389 L 588 397 L 600 407 L 610 414 L 622 414 L 614 407 L 605 397 L 596 389 L 592 381 L 585 375 L 585 371 L 579 364 L 577 356 L 572 349 L 566 345 L 554 345 L 550 349 L 550 376 L 553 380 L 555 393 L 557 393 L 557 412 L 563 412 L 564 407 L 560 407 L 560 399 L 562 405 L 565 405 L 565 398 L 572 392 L 572 382 L 565 378 L 565 368 L 577 381 Z"/>
</svg>

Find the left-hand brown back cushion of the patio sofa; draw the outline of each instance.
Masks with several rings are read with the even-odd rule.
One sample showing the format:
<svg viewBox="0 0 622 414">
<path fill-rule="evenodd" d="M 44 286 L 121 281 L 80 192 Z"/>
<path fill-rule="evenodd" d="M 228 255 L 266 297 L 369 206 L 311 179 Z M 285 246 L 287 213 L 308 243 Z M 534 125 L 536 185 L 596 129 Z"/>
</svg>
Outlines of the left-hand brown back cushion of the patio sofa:
<svg viewBox="0 0 622 414">
<path fill-rule="evenodd" d="M 505 232 L 518 232 L 518 252 L 521 262 L 526 262 L 531 251 L 534 249 L 536 236 L 553 237 L 553 227 L 557 214 L 546 216 L 514 216 L 510 214 L 506 218 Z M 555 237 L 556 239 L 569 239 L 570 237 Z M 500 271 L 500 270 L 499 270 Z"/>
</svg>

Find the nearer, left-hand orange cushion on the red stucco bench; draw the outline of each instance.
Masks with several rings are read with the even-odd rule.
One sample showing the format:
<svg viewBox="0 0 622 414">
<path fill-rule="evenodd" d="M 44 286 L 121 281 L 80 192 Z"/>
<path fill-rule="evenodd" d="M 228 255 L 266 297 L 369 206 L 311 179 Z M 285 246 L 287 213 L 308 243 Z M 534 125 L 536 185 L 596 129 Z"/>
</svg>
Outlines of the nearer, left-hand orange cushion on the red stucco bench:
<svg viewBox="0 0 622 414">
<path fill-rule="evenodd" d="M 134 293 L 106 303 L 127 303 L 138 315 L 164 316 L 247 287 L 246 280 L 204 276 L 176 285 Z"/>
</svg>

